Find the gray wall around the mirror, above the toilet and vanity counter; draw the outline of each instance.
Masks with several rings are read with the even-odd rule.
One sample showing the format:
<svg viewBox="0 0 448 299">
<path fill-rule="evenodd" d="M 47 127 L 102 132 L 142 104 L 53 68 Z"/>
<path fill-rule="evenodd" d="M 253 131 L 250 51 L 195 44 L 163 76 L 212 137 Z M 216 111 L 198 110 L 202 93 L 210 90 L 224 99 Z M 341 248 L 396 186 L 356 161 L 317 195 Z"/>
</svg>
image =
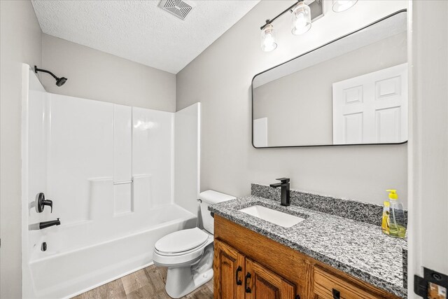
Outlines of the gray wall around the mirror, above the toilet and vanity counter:
<svg viewBox="0 0 448 299">
<path fill-rule="evenodd" d="M 298 190 L 379 204 L 387 188 L 397 188 L 406 202 L 407 145 L 251 146 L 252 77 L 407 6 L 407 1 L 387 3 L 358 1 L 339 14 L 327 6 L 325 17 L 302 36 L 290 34 L 289 18 L 279 18 L 279 46 L 263 53 L 260 25 L 290 1 L 261 1 L 177 74 L 176 109 L 202 103 L 201 190 L 247 195 L 251 182 L 267 184 L 288 176 Z"/>
</svg>

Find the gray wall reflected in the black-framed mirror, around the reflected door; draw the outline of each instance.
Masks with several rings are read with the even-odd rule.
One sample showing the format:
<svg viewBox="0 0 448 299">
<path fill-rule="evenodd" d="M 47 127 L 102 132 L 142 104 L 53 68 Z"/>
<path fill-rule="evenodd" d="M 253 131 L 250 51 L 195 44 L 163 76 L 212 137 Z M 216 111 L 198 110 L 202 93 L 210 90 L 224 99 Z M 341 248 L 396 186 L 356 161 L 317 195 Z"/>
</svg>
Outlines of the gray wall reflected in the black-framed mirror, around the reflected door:
<svg viewBox="0 0 448 299">
<path fill-rule="evenodd" d="M 255 88 L 253 118 L 267 117 L 268 146 L 332 144 L 332 83 L 407 62 L 406 36 L 390 36 Z"/>
</svg>

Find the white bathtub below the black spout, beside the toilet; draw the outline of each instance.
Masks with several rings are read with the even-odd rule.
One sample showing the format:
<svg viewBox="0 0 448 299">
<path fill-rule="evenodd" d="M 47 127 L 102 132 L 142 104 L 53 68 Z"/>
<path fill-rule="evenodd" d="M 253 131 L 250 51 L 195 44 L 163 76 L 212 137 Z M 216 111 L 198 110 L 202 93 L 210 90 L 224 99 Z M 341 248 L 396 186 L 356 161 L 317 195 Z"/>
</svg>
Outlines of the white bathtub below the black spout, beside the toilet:
<svg viewBox="0 0 448 299">
<path fill-rule="evenodd" d="M 65 229 L 61 225 L 62 230 L 41 237 L 29 263 L 34 297 L 70 298 L 151 265 L 160 237 L 196 225 L 196 216 L 176 204 L 158 207 L 148 215 L 153 217 L 145 221 L 149 225 L 141 225 L 144 230 L 106 241 L 94 232 L 80 236 L 85 230 L 76 227 L 83 225 Z M 88 227 L 89 223 L 84 224 Z M 41 251 L 42 242 L 48 243 L 47 251 Z"/>
</svg>

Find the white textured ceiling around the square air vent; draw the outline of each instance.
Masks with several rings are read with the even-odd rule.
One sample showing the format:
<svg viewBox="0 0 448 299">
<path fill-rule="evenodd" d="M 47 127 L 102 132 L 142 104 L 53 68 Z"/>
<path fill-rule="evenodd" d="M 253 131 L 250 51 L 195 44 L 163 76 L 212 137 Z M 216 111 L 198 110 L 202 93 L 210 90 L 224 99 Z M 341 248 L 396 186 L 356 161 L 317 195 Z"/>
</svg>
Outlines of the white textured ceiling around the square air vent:
<svg viewBox="0 0 448 299">
<path fill-rule="evenodd" d="M 193 1 L 186 20 L 160 1 L 31 2 L 45 34 L 177 74 L 259 0 Z"/>
</svg>

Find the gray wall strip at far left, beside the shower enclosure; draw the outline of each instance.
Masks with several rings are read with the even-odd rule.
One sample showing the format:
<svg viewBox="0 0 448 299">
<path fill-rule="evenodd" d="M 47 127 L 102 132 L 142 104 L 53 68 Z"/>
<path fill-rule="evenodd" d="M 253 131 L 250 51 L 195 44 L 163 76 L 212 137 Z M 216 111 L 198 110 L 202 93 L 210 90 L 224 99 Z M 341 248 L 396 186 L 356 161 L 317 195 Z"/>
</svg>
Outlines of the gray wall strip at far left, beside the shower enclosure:
<svg viewBox="0 0 448 299">
<path fill-rule="evenodd" d="M 0 298 L 20 298 L 22 63 L 41 64 L 42 32 L 30 1 L 0 1 Z"/>
</svg>

